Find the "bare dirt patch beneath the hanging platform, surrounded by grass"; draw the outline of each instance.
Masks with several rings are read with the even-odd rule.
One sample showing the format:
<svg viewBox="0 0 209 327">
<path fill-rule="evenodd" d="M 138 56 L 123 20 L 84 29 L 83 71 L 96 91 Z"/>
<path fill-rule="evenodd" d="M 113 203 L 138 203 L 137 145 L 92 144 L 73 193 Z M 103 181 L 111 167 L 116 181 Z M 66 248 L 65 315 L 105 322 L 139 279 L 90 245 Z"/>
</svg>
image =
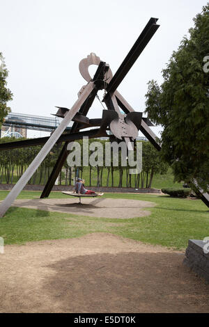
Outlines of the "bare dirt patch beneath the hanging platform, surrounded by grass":
<svg viewBox="0 0 209 327">
<path fill-rule="evenodd" d="M 13 205 L 79 216 L 122 219 L 148 216 L 150 212 L 144 208 L 155 206 L 155 203 L 150 201 L 106 198 L 82 198 L 82 205 L 78 202 L 78 198 L 66 196 L 65 199 L 15 200 Z"/>
</svg>

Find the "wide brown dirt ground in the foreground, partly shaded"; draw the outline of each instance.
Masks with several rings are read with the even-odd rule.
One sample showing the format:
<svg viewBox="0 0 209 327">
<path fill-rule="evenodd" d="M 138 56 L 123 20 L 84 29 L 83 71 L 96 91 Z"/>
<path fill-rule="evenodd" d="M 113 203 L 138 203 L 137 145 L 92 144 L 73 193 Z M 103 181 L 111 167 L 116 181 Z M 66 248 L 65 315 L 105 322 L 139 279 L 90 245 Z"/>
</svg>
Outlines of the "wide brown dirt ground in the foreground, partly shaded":
<svg viewBox="0 0 209 327">
<path fill-rule="evenodd" d="M 183 253 L 112 234 L 5 246 L 0 312 L 208 312 Z"/>
</svg>

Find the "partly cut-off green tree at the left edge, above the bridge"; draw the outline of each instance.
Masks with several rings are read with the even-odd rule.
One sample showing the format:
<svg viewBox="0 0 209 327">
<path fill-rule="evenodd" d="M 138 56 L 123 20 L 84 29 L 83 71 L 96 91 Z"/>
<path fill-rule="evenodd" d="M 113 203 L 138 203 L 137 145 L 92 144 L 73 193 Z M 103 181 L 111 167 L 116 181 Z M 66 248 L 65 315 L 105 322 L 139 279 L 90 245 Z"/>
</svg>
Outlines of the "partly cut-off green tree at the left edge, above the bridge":
<svg viewBox="0 0 209 327">
<path fill-rule="evenodd" d="M 7 102 L 13 99 L 13 94 L 6 88 L 8 77 L 8 70 L 4 64 L 4 58 L 0 52 L 0 128 L 3 123 L 3 119 L 10 112 L 10 107 L 7 106 Z"/>
</svg>

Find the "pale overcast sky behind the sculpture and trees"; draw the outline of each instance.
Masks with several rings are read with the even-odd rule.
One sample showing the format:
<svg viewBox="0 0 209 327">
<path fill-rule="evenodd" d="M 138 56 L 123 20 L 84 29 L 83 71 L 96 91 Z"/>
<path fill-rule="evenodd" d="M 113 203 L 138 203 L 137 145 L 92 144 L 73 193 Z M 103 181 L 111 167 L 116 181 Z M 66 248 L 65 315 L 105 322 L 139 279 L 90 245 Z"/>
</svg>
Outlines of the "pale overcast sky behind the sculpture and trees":
<svg viewBox="0 0 209 327">
<path fill-rule="evenodd" d="M 94 52 L 116 72 L 148 19 L 157 17 L 160 28 L 118 87 L 134 110 L 144 111 L 148 81 L 162 83 L 162 68 L 206 3 L 0 0 L 0 51 L 9 70 L 12 111 L 50 116 L 56 113 L 54 106 L 70 108 L 86 84 L 79 74 L 79 61 Z M 90 118 L 102 115 L 102 106 L 95 101 Z M 153 131 L 158 134 L 160 128 Z"/>
</svg>

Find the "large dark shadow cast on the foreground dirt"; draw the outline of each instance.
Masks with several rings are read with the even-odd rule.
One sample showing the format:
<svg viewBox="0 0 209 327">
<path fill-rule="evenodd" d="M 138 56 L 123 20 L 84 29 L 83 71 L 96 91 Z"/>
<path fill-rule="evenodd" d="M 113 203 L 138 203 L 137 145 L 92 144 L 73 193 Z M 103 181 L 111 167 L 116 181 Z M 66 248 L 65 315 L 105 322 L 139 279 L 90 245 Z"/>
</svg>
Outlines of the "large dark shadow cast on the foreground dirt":
<svg viewBox="0 0 209 327">
<path fill-rule="evenodd" d="M 209 287 L 183 266 L 183 253 L 77 255 L 47 268 L 54 274 L 45 278 L 42 292 L 59 312 L 209 310 Z"/>
</svg>

